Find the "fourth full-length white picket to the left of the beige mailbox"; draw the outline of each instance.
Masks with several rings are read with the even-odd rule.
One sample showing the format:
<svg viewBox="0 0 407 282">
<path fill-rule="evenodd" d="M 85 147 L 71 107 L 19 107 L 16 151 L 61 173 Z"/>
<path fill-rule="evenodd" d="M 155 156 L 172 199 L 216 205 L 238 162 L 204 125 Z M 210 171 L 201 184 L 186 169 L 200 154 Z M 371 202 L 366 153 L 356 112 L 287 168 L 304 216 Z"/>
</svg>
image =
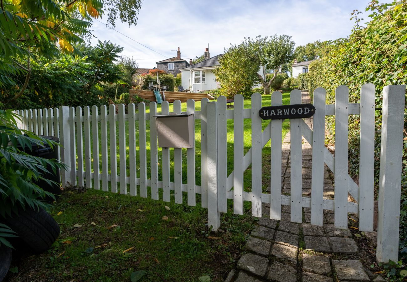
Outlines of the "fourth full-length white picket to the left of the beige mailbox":
<svg viewBox="0 0 407 282">
<path fill-rule="evenodd" d="M 119 104 L 119 163 L 120 163 L 120 194 L 127 194 L 127 169 L 126 169 L 126 121 L 125 105 Z"/>
</svg>

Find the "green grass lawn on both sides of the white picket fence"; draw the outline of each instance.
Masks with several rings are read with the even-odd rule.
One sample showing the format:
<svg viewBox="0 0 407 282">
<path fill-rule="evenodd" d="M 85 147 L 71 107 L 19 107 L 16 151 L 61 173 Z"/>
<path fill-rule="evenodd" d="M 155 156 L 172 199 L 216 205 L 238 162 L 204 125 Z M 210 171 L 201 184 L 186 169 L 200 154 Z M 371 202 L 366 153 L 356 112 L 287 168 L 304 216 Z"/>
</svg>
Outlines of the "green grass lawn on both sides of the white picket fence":
<svg viewBox="0 0 407 282">
<path fill-rule="evenodd" d="M 263 105 L 270 105 L 270 95 L 263 95 Z M 289 93 L 283 94 L 283 104 L 289 104 Z M 200 102 L 196 104 L 200 110 Z M 170 105 L 170 111 L 173 105 Z M 250 108 L 250 101 L 245 101 Z M 182 103 L 186 110 L 186 103 Z M 147 112 L 149 108 L 147 107 Z M 160 111 L 160 106 L 158 111 Z M 263 121 L 263 129 L 269 121 Z M 128 127 L 128 124 L 126 124 Z M 108 127 L 109 128 L 109 127 Z M 244 120 L 244 150 L 251 147 L 251 121 Z M 196 184 L 201 183 L 200 120 L 196 130 Z M 283 122 L 283 138 L 289 121 Z M 117 128 L 118 132 L 118 128 Z M 147 178 L 150 177 L 150 131 L 147 121 Z M 233 120 L 228 120 L 228 174 L 233 170 Z M 99 142 L 100 142 L 99 130 Z M 136 153 L 139 156 L 138 123 Z M 109 141 L 109 140 L 108 140 Z M 91 142 L 92 143 L 92 142 Z M 100 146 L 101 144 L 99 144 Z M 108 146 L 110 144 L 108 143 Z M 118 139 L 117 139 L 118 146 Z M 128 139 L 126 163 L 129 167 Z M 118 156 L 120 157 L 120 156 Z M 161 149 L 158 154 L 161 163 Z M 101 160 L 101 155 L 99 156 Z M 171 150 L 171 181 L 174 181 L 173 150 Z M 186 150 L 182 150 L 183 183 L 186 183 Z M 110 158 L 108 158 L 110 162 Z M 118 167 L 120 161 L 117 160 Z M 137 171 L 140 163 L 137 160 Z M 263 148 L 263 188 L 270 183 L 270 143 Z M 162 179 L 162 167 L 159 179 Z M 92 167 L 93 169 L 93 167 Z M 250 191 L 251 167 L 244 174 L 244 189 Z M 268 172 L 267 172 L 268 170 Z M 118 168 L 120 172 L 120 168 Z M 119 191 L 120 191 L 120 183 Z M 174 198 L 171 191 L 171 199 Z M 160 192 L 161 197 L 162 192 Z M 148 193 L 150 196 L 150 191 Z M 61 227 L 57 243 L 47 253 L 24 256 L 18 273 L 9 273 L 9 281 L 129 281 L 131 273 L 144 270 L 141 281 L 198 281 L 210 275 L 211 281 L 223 281 L 241 256 L 252 217 L 233 214 L 232 200 L 228 213 L 221 214 L 218 234 L 209 234 L 206 209 L 201 209 L 200 196 L 196 207 L 163 203 L 161 200 L 131 197 L 101 190 L 72 187 L 65 189 L 51 211 Z M 169 210 L 164 205 L 168 205 Z M 245 211 L 251 207 L 245 202 Z M 168 217 L 167 220 L 163 216 Z M 74 227 L 77 225 L 80 227 Z"/>
</svg>

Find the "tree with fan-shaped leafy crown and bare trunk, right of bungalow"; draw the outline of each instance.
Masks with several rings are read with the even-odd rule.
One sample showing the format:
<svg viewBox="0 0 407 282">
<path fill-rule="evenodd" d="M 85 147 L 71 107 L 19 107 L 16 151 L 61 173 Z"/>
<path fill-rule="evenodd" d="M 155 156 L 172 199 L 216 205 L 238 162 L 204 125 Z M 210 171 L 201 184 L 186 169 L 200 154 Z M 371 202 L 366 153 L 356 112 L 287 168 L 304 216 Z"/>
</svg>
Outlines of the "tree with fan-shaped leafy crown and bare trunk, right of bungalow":
<svg viewBox="0 0 407 282">
<path fill-rule="evenodd" d="M 257 64 L 256 73 L 259 66 L 264 66 L 266 70 L 271 70 L 274 75 L 269 81 L 257 74 L 258 80 L 264 88 L 264 94 L 270 94 L 270 85 L 282 66 L 290 62 L 294 57 L 294 45 L 291 36 L 273 35 L 270 37 L 245 38 L 242 42 L 248 51 L 247 55 L 252 56 Z"/>
</svg>

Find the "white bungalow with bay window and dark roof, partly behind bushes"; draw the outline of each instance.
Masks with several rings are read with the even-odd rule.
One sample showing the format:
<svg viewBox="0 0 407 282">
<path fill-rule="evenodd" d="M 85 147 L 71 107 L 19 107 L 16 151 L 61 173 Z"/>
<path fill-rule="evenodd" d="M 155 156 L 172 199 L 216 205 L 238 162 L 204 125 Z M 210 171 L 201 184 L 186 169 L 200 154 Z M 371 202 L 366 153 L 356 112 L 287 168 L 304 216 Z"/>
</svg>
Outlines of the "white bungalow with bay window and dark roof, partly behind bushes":
<svg viewBox="0 0 407 282">
<path fill-rule="evenodd" d="M 191 64 L 181 69 L 181 84 L 184 89 L 190 89 L 191 92 L 199 92 L 205 90 L 214 90 L 219 88 L 219 82 L 216 81 L 215 75 L 212 72 L 214 69 L 219 68 L 219 58 L 223 54 L 210 57 L 209 48 L 205 49 L 204 61 Z M 260 67 L 258 73 L 264 78 L 265 69 Z M 255 87 L 260 87 L 261 84 Z"/>
</svg>

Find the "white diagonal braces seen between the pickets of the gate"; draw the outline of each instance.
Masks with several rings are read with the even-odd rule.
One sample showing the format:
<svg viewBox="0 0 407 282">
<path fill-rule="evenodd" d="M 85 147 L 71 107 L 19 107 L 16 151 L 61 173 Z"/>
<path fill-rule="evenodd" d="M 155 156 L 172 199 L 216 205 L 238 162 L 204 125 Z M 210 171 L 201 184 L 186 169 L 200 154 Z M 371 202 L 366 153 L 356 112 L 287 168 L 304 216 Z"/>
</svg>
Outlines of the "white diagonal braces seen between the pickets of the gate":
<svg viewBox="0 0 407 282">
<path fill-rule="evenodd" d="M 263 130 L 261 134 L 262 146 L 264 147 L 267 142 L 270 140 L 271 136 L 271 123 L 267 125 L 267 127 Z M 312 130 L 309 126 L 302 120 L 302 136 L 304 136 L 305 140 L 311 144 L 312 147 Z M 324 147 L 324 162 L 329 167 L 332 172 L 335 172 L 335 157 L 328 151 L 326 147 Z M 247 170 L 249 165 L 252 163 L 252 148 L 245 154 L 243 157 L 243 169 Z M 233 174 L 232 171 L 228 176 L 228 191 L 230 191 L 233 187 Z M 359 186 L 353 181 L 352 177 L 348 175 L 349 183 L 349 194 L 354 198 L 354 200 L 359 203 Z"/>
</svg>

